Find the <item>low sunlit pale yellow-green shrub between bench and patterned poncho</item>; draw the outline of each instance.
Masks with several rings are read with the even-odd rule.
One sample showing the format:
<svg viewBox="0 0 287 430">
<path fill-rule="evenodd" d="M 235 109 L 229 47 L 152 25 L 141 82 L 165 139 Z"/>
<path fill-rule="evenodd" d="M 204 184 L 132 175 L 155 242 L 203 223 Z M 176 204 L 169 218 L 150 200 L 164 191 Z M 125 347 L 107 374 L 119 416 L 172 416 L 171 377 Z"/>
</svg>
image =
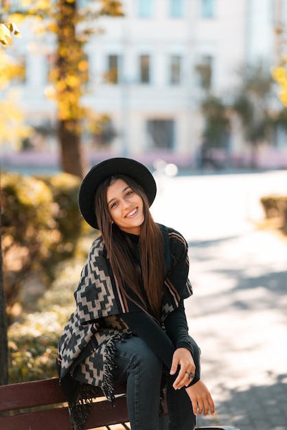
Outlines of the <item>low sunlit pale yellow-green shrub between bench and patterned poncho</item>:
<svg viewBox="0 0 287 430">
<path fill-rule="evenodd" d="M 58 341 L 75 309 L 73 291 L 83 262 L 82 258 L 58 264 L 56 280 L 38 302 L 39 311 L 9 327 L 10 383 L 57 376 Z"/>
</svg>

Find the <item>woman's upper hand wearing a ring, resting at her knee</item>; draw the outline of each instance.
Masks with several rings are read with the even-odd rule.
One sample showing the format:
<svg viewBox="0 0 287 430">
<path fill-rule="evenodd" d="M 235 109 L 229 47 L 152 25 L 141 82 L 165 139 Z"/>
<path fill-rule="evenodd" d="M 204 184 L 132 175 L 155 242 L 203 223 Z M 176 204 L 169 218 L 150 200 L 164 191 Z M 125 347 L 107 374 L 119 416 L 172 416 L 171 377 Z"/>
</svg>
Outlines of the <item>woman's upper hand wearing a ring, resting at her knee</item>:
<svg viewBox="0 0 287 430">
<path fill-rule="evenodd" d="M 187 385 L 189 385 L 192 381 L 192 378 L 190 378 L 190 373 L 195 374 L 194 359 L 192 358 L 192 353 L 190 350 L 187 350 L 187 348 L 178 348 L 174 351 L 174 355 L 172 357 L 172 367 L 170 368 L 171 375 L 176 373 L 179 365 L 179 374 L 172 385 L 174 389 L 187 387 Z"/>
</svg>

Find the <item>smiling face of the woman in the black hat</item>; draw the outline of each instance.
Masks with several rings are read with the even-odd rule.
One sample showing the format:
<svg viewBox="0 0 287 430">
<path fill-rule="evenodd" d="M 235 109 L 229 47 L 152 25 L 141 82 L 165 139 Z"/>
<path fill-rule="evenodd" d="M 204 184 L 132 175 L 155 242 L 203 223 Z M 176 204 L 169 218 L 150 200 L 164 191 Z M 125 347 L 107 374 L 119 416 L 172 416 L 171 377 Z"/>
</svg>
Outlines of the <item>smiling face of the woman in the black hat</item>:
<svg viewBox="0 0 287 430">
<path fill-rule="evenodd" d="M 130 188 L 123 179 L 116 179 L 108 186 L 106 201 L 111 220 L 119 229 L 126 233 L 137 235 L 141 233 L 141 224 L 144 220 L 143 200 L 133 188 Z"/>
</svg>

